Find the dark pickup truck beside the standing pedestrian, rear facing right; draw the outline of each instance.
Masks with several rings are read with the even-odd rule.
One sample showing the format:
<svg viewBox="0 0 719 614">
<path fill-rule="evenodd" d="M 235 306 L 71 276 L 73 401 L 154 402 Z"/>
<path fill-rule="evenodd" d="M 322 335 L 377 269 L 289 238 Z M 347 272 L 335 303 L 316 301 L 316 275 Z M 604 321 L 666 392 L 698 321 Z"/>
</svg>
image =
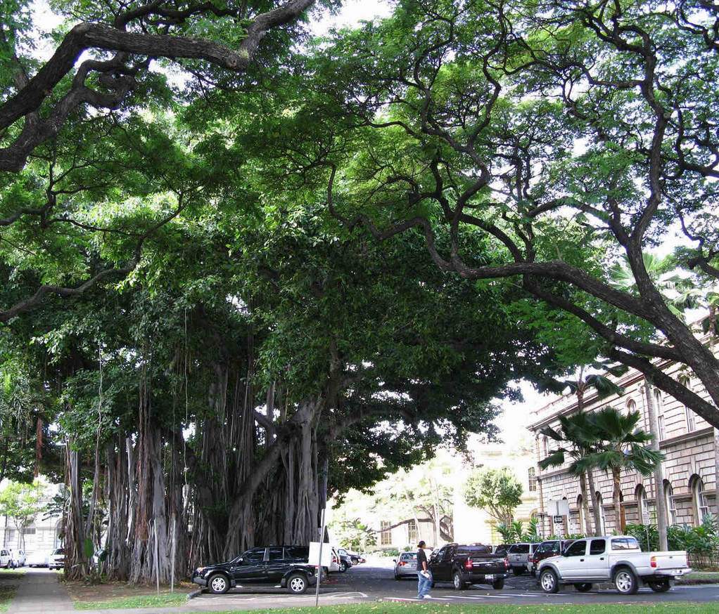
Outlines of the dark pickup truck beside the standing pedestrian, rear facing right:
<svg viewBox="0 0 719 614">
<path fill-rule="evenodd" d="M 490 584 L 501 589 L 509 575 L 509 564 L 506 557 L 492 554 L 492 548 L 484 544 L 447 544 L 432 555 L 429 570 L 434 582 L 452 582 L 455 590 L 470 584 Z"/>
</svg>

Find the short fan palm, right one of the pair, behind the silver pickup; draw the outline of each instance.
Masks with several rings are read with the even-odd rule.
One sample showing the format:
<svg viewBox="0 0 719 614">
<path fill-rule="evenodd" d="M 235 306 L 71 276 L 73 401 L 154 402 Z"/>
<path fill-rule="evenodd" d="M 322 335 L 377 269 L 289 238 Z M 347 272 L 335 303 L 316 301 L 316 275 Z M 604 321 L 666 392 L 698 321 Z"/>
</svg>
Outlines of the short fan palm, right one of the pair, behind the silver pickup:
<svg viewBox="0 0 719 614">
<path fill-rule="evenodd" d="M 613 407 L 603 407 L 586 414 L 583 428 L 589 429 L 585 437 L 592 438 L 592 450 L 577 461 L 577 470 L 600 468 L 612 473 L 614 492 L 612 503 L 616 526 L 625 528 L 621 516 L 621 473 L 623 469 L 636 469 L 641 475 L 651 475 L 664 455 L 649 447 L 651 434 L 636 428 L 641 417 L 638 411 L 623 414 Z"/>
</svg>

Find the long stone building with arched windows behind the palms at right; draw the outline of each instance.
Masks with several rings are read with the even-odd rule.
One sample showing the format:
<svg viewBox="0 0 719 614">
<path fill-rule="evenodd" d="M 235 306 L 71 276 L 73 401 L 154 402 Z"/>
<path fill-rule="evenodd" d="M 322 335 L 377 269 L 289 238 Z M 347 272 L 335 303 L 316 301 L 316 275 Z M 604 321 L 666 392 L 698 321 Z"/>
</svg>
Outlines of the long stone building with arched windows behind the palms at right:
<svg viewBox="0 0 719 614">
<path fill-rule="evenodd" d="M 663 363 L 660 368 L 707 398 L 700 381 L 686 367 Z M 624 521 L 627 524 L 656 524 L 656 493 L 657 488 L 661 488 L 659 492 L 663 492 L 666 498 L 669 524 L 701 524 L 707 513 L 715 511 L 716 447 L 713 427 L 672 396 L 648 384 L 638 371 L 628 371 L 624 376 L 615 378 L 615 381 L 623 387 L 623 394 L 599 400 L 596 394 L 592 395 L 589 390 L 585 397 L 585 411 L 604 406 L 612 406 L 620 411 L 638 410 L 641 412 L 638 426 L 651 432 L 648 411 L 648 395 L 651 395 L 656 408 L 659 449 L 666 456 L 662 462 L 664 483 L 660 485 L 655 483 L 654 476 L 642 476 L 633 470 L 622 472 L 620 501 Z M 577 397 L 565 395 L 533 411 L 529 429 L 535 435 L 536 462 L 544 459 L 556 447 L 552 439 L 540 434 L 541 429 L 547 425 L 559 427 L 557 417 L 561 414 L 572 414 L 576 410 Z M 584 533 L 579 479 L 569 475 L 567 465 L 546 470 L 537 468 L 536 471 L 543 534 Z M 593 475 L 603 533 L 620 532 L 620 522 L 615 518 L 612 505 L 612 476 L 601 470 L 595 470 Z M 562 499 L 569 503 L 569 516 L 563 516 L 561 522 L 556 522 L 559 517 L 551 516 L 548 504 L 549 501 Z M 589 505 L 591 515 L 591 501 Z"/>
</svg>

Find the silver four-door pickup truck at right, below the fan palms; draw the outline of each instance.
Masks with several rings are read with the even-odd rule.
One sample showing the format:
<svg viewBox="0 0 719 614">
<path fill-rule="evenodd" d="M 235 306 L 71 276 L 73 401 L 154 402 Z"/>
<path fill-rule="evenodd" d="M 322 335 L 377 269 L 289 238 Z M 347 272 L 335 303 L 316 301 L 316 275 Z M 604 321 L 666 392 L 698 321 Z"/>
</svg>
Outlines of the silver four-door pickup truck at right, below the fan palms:
<svg viewBox="0 0 719 614">
<path fill-rule="evenodd" d="M 669 580 L 692 571 L 683 550 L 641 552 L 627 535 L 587 537 L 574 541 L 559 557 L 539 564 L 539 585 L 544 592 L 557 592 L 574 585 L 582 592 L 595 582 L 613 582 L 623 595 L 633 595 L 644 582 L 655 592 L 669 590 Z"/>
</svg>

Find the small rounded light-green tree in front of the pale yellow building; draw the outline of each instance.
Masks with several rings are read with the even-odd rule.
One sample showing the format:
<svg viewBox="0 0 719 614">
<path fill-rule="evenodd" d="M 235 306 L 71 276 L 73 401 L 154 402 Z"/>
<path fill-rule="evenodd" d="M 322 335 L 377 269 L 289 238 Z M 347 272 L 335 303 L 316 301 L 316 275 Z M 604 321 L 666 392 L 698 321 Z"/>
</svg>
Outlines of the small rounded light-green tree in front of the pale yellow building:
<svg viewBox="0 0 719 614">
<path fill-rule="evenodd" d="M 485 509 L 500 524 L 508 526 L 515 508 L 522 502 L 523 486 L 508 468 L 473 470 L 464 485 L 464 501 L 470 507 Z M 517 527 L 511 529 L 521 533 Z"/>
</svg>

